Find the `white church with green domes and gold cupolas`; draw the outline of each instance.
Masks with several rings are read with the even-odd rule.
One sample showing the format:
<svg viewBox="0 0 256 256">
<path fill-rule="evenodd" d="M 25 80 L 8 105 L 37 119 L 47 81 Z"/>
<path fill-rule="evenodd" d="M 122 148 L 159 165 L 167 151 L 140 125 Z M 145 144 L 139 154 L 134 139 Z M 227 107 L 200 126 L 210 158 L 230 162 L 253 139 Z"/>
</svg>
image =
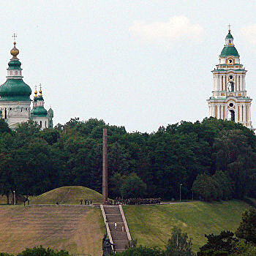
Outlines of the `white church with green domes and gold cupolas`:
<svg viewBox="0 0 256 256">
<path fill-rule="evenodd" d="M 39 124 L 41 129 L 53 128 L 53 110 L 46 110 L 42 97 L 42 86 L 34 92 L 33 108 L 31 109 L 31 88 L 23 82 L 21 63 L 17 58 L 19 50 L 16 42 L 10 51 L 10 59 L 7 68 L 7 80 L 0 86 L 0 118 L 7 122 L 11 129 L 15 129 L 21 122 L 31 119 Z"/>
</svg>

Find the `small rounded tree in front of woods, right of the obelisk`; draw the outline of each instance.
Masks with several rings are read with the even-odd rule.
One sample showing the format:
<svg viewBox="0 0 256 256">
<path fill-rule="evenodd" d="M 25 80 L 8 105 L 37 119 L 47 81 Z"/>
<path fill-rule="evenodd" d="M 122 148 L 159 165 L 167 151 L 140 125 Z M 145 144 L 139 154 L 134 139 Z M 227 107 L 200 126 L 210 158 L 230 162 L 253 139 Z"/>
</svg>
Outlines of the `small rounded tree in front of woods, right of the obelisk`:
<svg viewBox="0 0 256 256">
<path fill-rule="evenodd" d="M 138 198 L 143 197 L 146 193 L 146 184 L 136 173 L 131 173 L 124 179 L 121 185 L 121 197 Z"/>
</svg>

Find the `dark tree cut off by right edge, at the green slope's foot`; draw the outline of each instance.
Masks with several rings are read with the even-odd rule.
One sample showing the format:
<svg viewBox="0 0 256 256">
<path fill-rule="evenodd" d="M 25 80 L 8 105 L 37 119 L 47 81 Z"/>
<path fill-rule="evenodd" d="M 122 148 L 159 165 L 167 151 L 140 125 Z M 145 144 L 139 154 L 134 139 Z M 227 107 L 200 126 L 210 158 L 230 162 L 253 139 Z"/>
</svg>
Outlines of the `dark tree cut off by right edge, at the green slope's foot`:
<svg viewBox="0 0 256 256">
<path fill-rule="evenodd" d="M 244 211 L 236 236 L 256 245 L 256 208 Z"/>
</svg>

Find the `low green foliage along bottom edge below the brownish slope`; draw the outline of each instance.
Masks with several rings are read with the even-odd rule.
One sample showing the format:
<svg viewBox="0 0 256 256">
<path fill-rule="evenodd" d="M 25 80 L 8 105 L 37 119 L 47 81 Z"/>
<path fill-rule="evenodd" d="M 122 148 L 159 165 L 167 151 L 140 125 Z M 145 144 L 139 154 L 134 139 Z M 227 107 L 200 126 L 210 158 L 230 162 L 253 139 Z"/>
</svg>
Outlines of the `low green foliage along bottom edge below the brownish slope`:
<svg viewBox="0 0 256 256">
<path fill-rule="evenodd" d="M 55 251 L 53 249 L 45 249 L 42 246 L 34 247 L 33 249 L 26 249 L 20 252 L 17 256 L 68 256 L 69 253 L 66 251 Z"/>
</svg>

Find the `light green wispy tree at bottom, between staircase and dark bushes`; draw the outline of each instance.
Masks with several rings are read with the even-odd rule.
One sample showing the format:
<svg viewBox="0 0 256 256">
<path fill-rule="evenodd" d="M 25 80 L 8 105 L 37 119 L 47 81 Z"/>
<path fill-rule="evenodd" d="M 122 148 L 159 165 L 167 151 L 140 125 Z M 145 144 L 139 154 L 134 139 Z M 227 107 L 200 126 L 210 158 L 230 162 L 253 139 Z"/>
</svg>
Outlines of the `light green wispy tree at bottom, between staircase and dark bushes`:
<svg viewBox="0 0 256 256">
<path fill-rule="evenodd" d="M 166 245 L 166 256 L 192 256 L 192 241 L 187 233 L 181 232 L 179 227 L 174 226 L 172 235 Z"/>
</svg>

